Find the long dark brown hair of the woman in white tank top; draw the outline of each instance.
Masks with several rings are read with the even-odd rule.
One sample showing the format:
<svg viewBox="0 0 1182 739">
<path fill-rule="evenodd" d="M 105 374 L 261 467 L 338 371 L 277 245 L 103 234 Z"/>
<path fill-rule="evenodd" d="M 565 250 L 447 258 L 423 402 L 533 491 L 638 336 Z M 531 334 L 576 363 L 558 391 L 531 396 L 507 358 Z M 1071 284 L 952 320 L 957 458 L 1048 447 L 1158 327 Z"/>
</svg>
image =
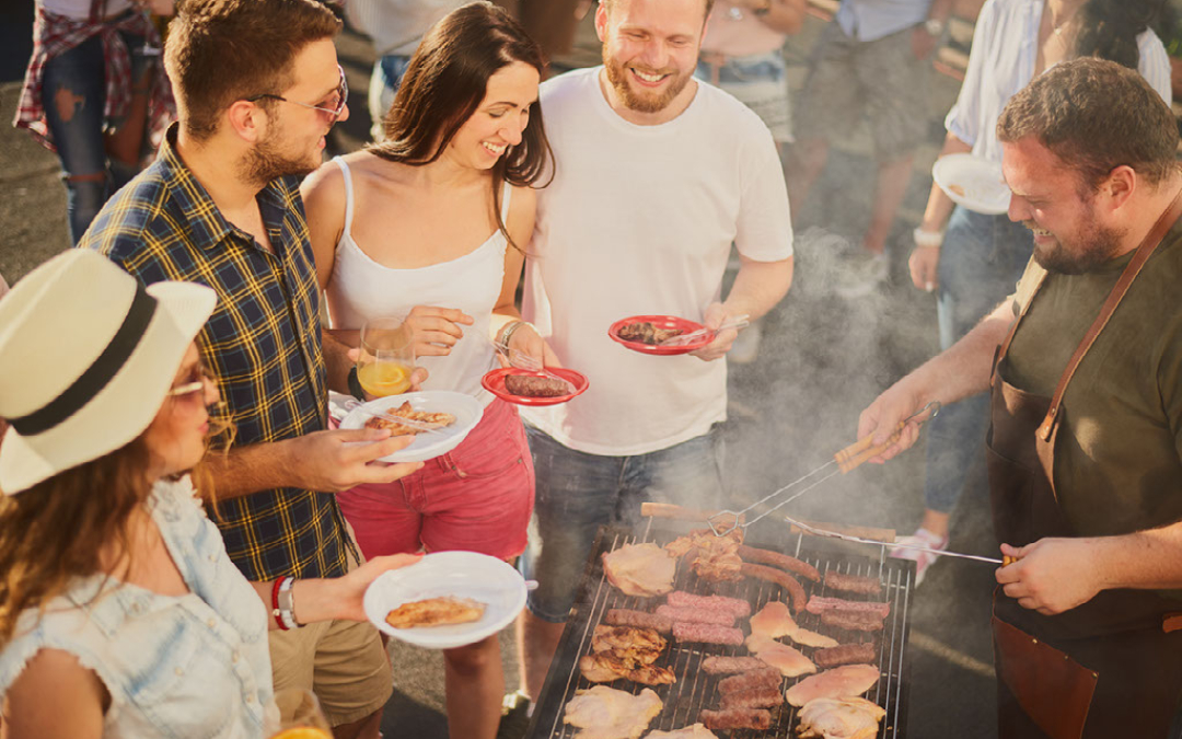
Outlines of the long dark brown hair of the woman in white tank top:
<svg viewBox="0 0 1182 739">
<path fill-rule="evenodd" d="M 439 160 L 485 99 L 488 78 L 514 61 L 528 64 L 545 77 L 541 47 L 512 15 L 492 2 L 472 2 L 453 11 L 435 24 L 410 58 L 394 105 L 382 122 L 385 140 L 366 150 L 413 167 Z M 501 218 L 501 186 L 535 184 L 552 160 L 541 110 L 535 106 L 521 143 L 511 147 L 492 169 L 496 227 L 519 251 Z"/>
</svg>

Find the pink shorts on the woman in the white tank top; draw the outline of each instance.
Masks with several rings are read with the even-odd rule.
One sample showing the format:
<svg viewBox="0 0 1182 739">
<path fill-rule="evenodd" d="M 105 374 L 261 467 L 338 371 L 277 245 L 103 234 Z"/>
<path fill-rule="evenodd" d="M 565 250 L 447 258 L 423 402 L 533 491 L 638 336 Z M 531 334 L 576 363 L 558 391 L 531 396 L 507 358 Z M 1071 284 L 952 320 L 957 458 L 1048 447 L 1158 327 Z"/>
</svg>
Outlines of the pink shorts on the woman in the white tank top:
<svg viewBox="0 0 1182 739">
<path fill-rule="evenodd" d="M 533 458 L 517 407 L 494 400 L 455 449 L 337 500 L 366 558 L 422 549 L 517 557 L 533 512 Z"/>
</svg>

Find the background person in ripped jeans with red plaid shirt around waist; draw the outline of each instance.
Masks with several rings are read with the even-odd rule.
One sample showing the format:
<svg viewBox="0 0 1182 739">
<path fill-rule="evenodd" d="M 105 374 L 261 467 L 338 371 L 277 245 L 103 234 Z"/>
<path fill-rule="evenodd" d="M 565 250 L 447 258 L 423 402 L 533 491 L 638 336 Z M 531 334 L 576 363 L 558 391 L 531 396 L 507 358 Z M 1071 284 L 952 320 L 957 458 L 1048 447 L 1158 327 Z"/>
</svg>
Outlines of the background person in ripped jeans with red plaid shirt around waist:
<svg viewBox="0 0 1182 739">
<path fill-rule="evenodd" d="M 173 0 L 37 0 L 13 125 L 60 160 L 71 244 L 139 171 L 175 115 L 147 11 L 171 15 Z"/>
</svg>

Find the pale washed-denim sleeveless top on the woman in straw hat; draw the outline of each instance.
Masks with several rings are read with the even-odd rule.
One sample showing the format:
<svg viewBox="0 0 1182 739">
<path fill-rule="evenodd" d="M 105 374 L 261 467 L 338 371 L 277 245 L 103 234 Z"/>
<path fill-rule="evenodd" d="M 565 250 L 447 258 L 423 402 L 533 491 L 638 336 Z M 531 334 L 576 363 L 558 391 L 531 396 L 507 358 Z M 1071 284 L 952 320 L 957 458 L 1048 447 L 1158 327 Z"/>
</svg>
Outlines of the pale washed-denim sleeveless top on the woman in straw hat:
<svg viewBox="0 0 1182 739">
<path fill-rule="evenodd" d="M 40 649 L 60 649 L 110 692 L 104 737 L 261 737 L 273 707 L 267 610 L 188 478 L 157 482 L 148 505 L 191 592 L 79 581 L 44 615 L 22 614 L 0 653 L 0 698 Z"/>
</svg>

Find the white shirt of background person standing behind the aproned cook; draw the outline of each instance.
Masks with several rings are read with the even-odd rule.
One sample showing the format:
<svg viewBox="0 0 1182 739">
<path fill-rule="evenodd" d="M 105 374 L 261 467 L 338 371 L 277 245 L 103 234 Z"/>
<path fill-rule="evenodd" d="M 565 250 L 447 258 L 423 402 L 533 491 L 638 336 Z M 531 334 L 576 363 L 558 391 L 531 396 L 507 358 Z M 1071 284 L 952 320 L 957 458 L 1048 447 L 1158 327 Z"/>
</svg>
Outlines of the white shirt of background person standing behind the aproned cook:
<svg viewBox="0 0 1182 739">
<path fill-rule="evenodd" d="M 944 127 L 973 154 L 1001 161 L 998 118 L 1006 103 L 1034 79 L 1043 0 L 988 0 L 976 19 L 965 84 Z M 1152 31 L 1137 37 L 1138 70 L 1169 104 L 1170 59 Z"/>
</svg>

